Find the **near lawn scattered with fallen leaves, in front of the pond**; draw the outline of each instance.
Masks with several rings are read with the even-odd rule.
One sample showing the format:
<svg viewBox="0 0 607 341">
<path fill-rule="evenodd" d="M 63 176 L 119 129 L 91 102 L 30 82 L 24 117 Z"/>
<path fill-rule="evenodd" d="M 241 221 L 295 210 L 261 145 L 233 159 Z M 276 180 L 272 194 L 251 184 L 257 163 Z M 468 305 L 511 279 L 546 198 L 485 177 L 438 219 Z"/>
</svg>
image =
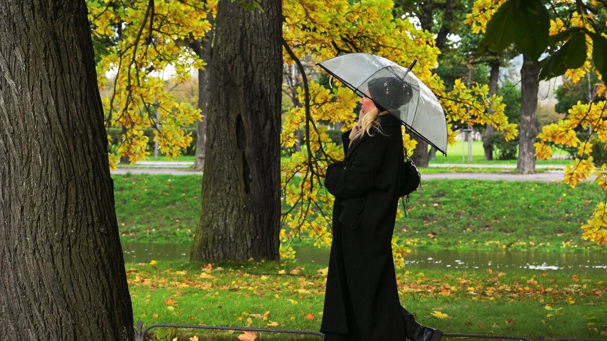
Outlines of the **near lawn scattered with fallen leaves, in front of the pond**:
<svg viewBox="0 0 607 341">
<path fill-rule="evenodd" d="M 144 325 L 316 331 L 320 327 L 325 275 L 315 265 L 152 264 L 126 265 L 135 320 Z M 600 275 L 529 270 L 422 272 L 407 268 L 398 270 L 397 279 L 402 304 L 416 312 L 420 322 L 447 333 L 530 339 L 540 335 L 546 339 L 606 336 L 606 288 Z M 188 333 L 188 337 L 197 334 L 201 340 L 212 335 L 208 331 Z M 210 339 L 236 340 L 238 334 L 215 333 Z M 284 336 L 264 337 L 262 333 L 260 339 L 284 340 Z"/>
</svg>

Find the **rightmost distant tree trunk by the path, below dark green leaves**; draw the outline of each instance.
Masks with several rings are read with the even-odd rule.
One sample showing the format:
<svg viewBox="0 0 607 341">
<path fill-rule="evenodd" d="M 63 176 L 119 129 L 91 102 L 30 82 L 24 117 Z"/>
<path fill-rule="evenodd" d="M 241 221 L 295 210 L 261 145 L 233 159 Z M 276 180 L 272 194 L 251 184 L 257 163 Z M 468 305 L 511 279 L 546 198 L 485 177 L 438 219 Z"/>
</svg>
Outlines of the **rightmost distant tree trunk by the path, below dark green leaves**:
<svg viewBox="0 0 607 341">
<path fill-rule="evenodd" d="M 517 172 L 535 173 L 535 110 L 537 109 L 537 91 L 540 84 L 537 76 L 541 64 L 523 55 L 521 67 L 521 123 L 518 125 L 518 163 Z"/>
</svg>

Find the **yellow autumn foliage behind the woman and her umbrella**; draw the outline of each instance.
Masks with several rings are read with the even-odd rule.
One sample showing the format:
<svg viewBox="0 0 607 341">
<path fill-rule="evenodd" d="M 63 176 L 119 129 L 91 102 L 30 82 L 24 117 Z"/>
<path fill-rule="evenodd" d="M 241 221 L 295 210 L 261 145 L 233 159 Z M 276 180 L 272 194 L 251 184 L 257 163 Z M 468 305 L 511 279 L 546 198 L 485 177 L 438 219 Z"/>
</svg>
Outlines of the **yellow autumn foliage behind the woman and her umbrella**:
<svg viewBox="0 0 607 341">
<path fill-rule="evenodd" d="M 418 60 L 413 70 L 418 78 L 443 104 L 447 115 L 447 133 L 453 143 L 456 132 L 453 124 L 471 126 L 492 124 L 504 132 L 506 139 L 517 135 L 514 124 L 504 115 L 501 97 L 489 96 L 485 84 L 466 86 L 460 79 L 447 90 L 443 81 L 432 72 L 440 51 L 435 46 L 432 33 L 421 30 L 407 19 L 394 18 L 393 2 L 367 0 L 360 2 L 305 0 L 284 1 L 285 25 L 283 38 L 297 59 L 311 61 L 311 74 L 320 75 L 315 62 L 348 52 L 370 52 L 409 66 Z M 285 55 L 285 62 L 294 62 Z M 339 124 L 342 131 L 353 126 L 357 118 L 354 109 L 359 98 L 351 90 L 333 84 L 309 82 L 310 113 L 306 114 L 305 90 L 297 89 L 300 106 L 293 107 L 283 116 L 281 141 L 284 147 L 295 143 L 296 132 L 304 132 L 300 152 L 295 152 L 282 164 L 282 191 L 285 199 L 283 221 L 285 229 L 282 256 L 292 256 L 288 240 L 294 237 L 314 238 L 315 245 L 328 245 L 330 237 L 330 212 L 333 197 L 322 187 L 324 171 L 328 164 L 344 157 L 342 146 L 330 140 L 327 130 Z M 492 106 L 492 115 L 487 109 Z M 416 144 L 404 132 L 404 146 L 413 150 Z M 300 175 L 300 176 L 297 176 Z M 398 213 L 398 217 L 402 212 Z M 395 260 L 402 263 L 407 249 L 393 240 Z"/>
</svg>

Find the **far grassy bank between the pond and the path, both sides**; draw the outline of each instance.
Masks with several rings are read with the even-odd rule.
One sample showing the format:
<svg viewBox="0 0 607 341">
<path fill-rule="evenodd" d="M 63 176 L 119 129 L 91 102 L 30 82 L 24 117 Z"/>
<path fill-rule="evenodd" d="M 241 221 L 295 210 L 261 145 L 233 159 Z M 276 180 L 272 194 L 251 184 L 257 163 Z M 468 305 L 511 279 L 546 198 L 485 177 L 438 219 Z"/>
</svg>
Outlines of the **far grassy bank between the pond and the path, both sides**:
<svg viewBox="0 0 607 341">
<path fill-rule="evenodd" d="M 123 241 L 190 243 L 200 214 L 199 175 L 113 175 Z M 432 180 L 405 204 L 396 234 L 415 248 L 592 248 L 580 223 L 600 200 L 590 184 Z M 399 204 L 400 205 L 400 204 Z"/>
</svg>

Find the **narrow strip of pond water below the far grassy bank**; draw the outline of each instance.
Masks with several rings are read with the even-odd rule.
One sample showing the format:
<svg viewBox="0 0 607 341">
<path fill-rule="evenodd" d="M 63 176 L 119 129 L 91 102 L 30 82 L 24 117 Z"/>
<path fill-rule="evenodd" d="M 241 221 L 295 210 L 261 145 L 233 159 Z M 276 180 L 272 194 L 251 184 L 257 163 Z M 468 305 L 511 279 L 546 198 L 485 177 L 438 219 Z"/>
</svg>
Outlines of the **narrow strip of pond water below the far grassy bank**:
<svg viewBox="0 0 607 341">
<path fill-rule="evenodd" d="M 123 243 L 124 262 L 147 263 L 154 260 L 186 260 L 189 244 Z M 329 249 L 311 246 L 294 248 L 297 259 L 304 263 L 327 265 Z M 578 274 L 607 275 L 605 252 L 524 252 L 524 251 L 460 251 L 413 250 L 405 257 L 405 265 L 428 269 L 532 269 L 542 272 L 571 271 Z"/>
</svg>

